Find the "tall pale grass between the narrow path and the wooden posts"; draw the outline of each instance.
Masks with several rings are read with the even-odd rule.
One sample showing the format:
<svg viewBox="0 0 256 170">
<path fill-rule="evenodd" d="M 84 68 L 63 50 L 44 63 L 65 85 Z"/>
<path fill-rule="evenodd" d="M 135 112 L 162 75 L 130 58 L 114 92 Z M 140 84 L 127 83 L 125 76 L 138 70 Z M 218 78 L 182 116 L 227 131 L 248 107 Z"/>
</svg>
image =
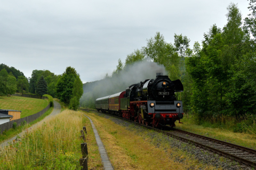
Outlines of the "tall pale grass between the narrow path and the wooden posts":
<svg viewBox="0 0 256 170">
<path fill-rule="evenodd" d="M 66 110 L 46 118 L 0 152 L 0 169 L 80 169 L 84 116 Z"/>
</svg>

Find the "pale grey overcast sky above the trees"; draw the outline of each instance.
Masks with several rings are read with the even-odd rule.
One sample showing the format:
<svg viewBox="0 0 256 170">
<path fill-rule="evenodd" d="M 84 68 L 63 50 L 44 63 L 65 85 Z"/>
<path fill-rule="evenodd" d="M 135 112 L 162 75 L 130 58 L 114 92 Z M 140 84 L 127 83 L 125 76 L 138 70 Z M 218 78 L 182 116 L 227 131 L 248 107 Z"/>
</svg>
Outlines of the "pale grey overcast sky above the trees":
<svg viewBox="0 0 256 170">
<path fill-rule="evenodd" d="M 0 0 L 0 64 L 26 77 L 71 66 L 84 83 L 99 80 L 157 31 L 172 44 L 174 33 L 182 33 L 193 48 L 211 25 L 223 28 L 230 2 L 243 19 L 250 13 L 246 0 Z"/>
</svg>

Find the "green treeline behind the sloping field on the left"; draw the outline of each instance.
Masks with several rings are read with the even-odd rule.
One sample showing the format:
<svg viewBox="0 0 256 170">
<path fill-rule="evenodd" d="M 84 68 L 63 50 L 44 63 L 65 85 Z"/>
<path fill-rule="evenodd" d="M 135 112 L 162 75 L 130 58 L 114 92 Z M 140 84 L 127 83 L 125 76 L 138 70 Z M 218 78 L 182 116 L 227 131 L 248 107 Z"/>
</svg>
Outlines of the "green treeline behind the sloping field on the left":
<svg viewBox="0 0 256 170">
<path fill-rule="evenodd" d="M 83 95 L 83 83 L 73 67 L 67 67 L 61 75 L 49 70 L 33 70 L 31 78 L 5 64 L 0 64 L 0 96 L 10 96 L 15 92 L 59 98 L 71 109 L 77 109 Z"/>
</svg>

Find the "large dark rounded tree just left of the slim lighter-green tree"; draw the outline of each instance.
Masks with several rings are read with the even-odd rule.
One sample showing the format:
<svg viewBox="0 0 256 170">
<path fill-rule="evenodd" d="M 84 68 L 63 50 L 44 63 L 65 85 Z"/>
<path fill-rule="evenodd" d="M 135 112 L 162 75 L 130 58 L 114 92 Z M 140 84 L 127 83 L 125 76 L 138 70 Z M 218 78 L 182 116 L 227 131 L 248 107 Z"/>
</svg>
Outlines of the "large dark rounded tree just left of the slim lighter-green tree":
<svg viewBox="0 0 256 170">
<path fill-rule="evenodd" d="M 66 71 L 58 79 L 56 84 L 56 95 L 59 99 L 69 105 L 73 95 L 74 81 L 77 77 L 77 72 L 73 67 L 67 67 Z"/>
</svg>

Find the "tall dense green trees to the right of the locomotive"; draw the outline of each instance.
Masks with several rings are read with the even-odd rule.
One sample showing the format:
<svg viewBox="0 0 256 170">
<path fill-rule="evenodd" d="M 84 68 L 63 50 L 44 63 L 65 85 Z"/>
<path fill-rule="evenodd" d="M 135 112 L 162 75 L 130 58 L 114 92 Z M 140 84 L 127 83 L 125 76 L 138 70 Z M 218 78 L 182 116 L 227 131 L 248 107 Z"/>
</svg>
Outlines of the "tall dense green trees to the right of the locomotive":
<svg viewBox="0 0 256 170">
<path fill-rule="evenodd" d="M 227 9 L 223 31 L 213 25 L 204 35 L 203 48 L 195 43 L 186 60 L 193 79 L 190 108 L 201 119 L 256 111 L 255 45 L 242 29 L 237 5 L 231 3 Z"/>
</svg>

